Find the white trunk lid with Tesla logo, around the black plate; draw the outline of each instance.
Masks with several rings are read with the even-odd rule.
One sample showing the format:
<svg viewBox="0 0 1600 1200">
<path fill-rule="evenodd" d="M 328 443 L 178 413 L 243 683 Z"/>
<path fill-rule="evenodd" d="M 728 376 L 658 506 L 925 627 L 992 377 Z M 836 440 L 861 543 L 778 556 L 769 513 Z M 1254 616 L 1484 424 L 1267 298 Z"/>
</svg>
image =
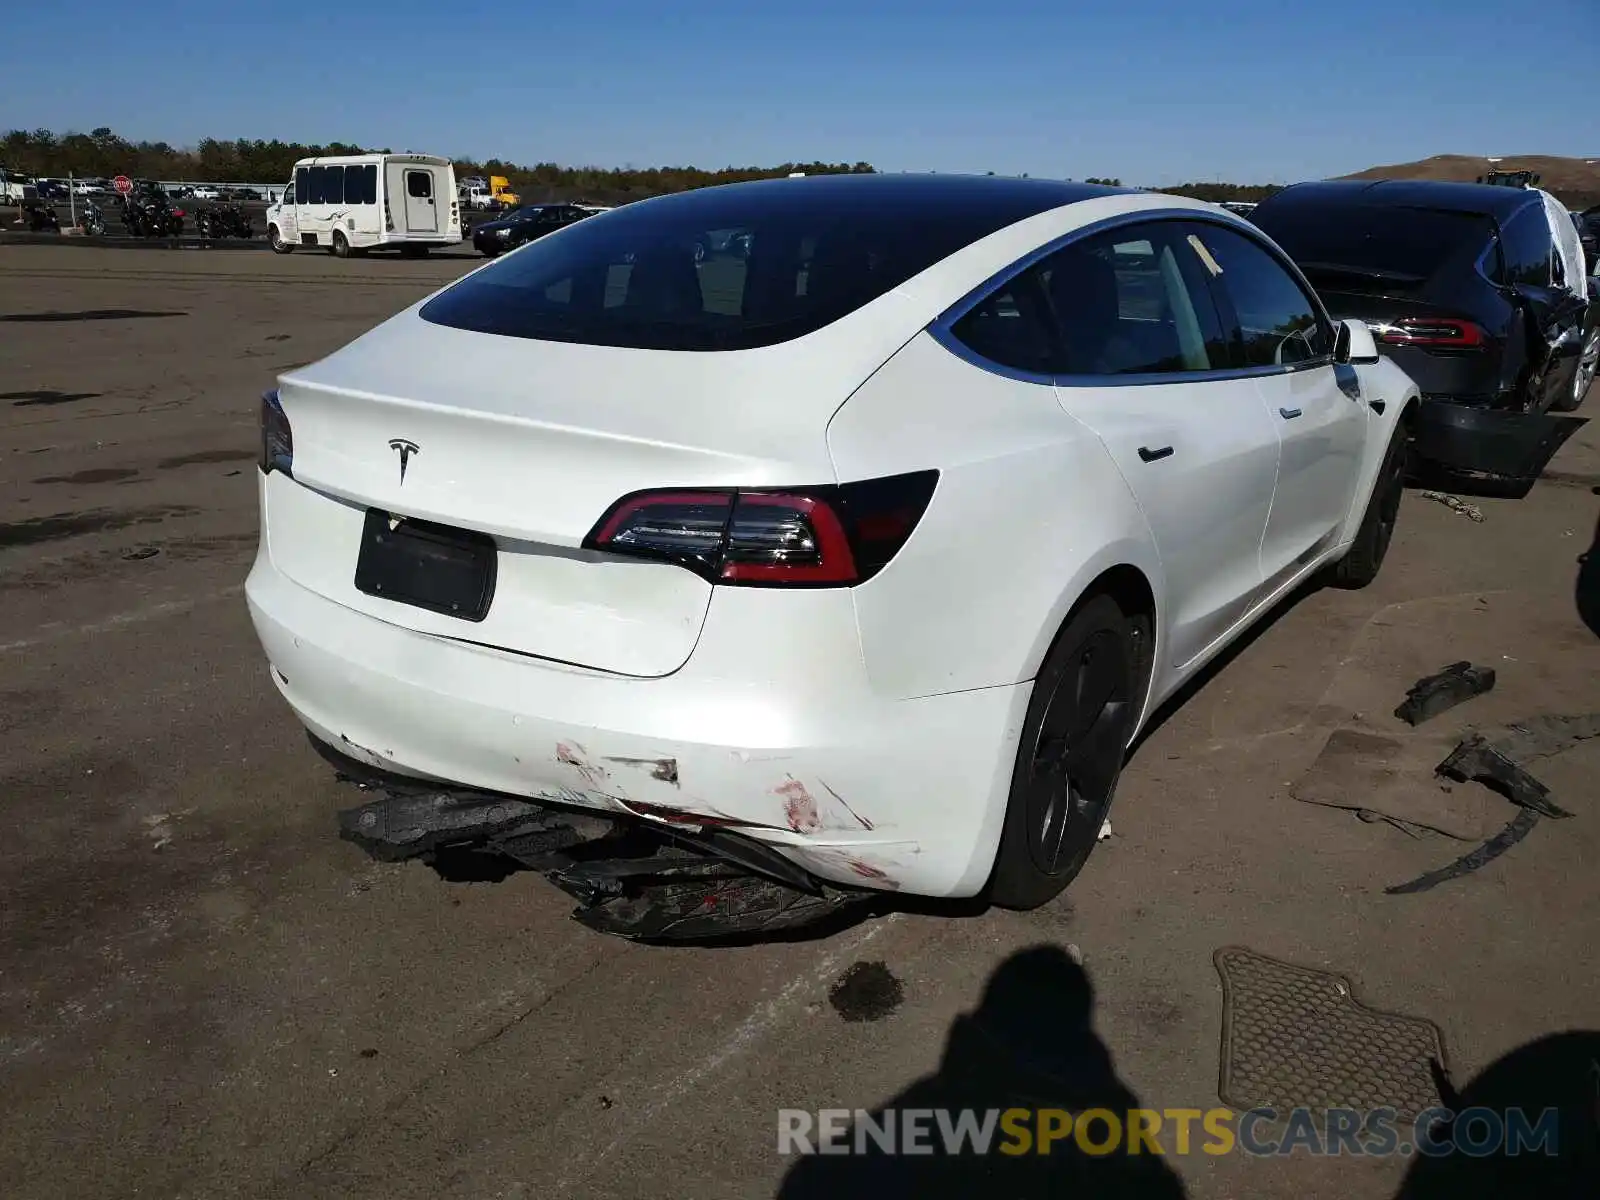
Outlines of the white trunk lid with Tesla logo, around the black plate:
<svg viewBox="0 0 1600 1200">
<path fill-rule="evenodd" d="M 694 648 L 710 584 L 584 550 L 586 534 L 646 488 L 834 482 L 829 418 L 893 349 L 856 322 L 758 350 L 690 354 L 501 338 L 405 312 L 280 381 L 294 483 L 267 482 L 274 562 L 394 624 L 670 674 Z M 488 614 L 472 622 L 357 589 L 370 509 L 493 536 Z"/>
</svg>

